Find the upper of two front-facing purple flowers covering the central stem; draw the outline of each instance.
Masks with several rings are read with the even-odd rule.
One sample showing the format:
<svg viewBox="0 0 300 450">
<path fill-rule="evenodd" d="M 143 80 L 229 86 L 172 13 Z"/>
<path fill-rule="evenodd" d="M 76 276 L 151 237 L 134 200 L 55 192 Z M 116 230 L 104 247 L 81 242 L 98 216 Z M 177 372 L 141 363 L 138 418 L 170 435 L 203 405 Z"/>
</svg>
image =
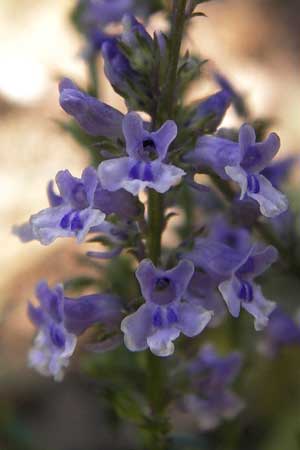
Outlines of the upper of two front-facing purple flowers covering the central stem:
<svg viewBox="0 0 300 450">
<path fill-rule="evenodd" d="M 98 174 L 104 189 L 124 188 L 137 195 L 148 187 L 164 193 L 180 181 L 185 172 L 163 162 L 177 134 L 175 122 L 168 120 L 158 131 L 149 132 L 143 128 L 140 116 L 131 112 L 124 117 L 123 133 L 128 156 L 99 165 Z"/>
</svg>

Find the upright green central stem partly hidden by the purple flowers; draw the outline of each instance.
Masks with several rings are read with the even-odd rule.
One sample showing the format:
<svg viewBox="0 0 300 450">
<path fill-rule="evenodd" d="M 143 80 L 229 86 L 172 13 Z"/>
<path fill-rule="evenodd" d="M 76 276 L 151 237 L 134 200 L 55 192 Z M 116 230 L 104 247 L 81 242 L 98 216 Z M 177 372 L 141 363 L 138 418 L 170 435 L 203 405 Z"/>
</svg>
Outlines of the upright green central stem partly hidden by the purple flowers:
<svg viewBox="0 0 300 450">
<path fill-rule="evenodd" d="M 164 88 L 157 110 L 165 112 L 167 118 L 173 117 L 174 93 L 176 90 L 177 66 L 179 60 L 180 46 L 182 41 L 185 6 L 187 0 L 173 1 L 173 14 L 170 35 L 170 60 L 168 71 L 164 83 Z M 153 114 L 153 127 L 157 124 L 157 111 Z M 164 199 L 163 195 L 153 189 L 148 191 L 148 234 L 147 248 L 148 256 L 153 264 L 158 265 L 161 256 L 161 236 L 164 220 Z M 166 398 L 166 371 L 164 361 L 157 356 L 152 355 L 150 351 L 147 354 L 147 396 L 152 413 L 153 429 L 149 442 L 149 450 L 166 450 L 168 446 L 168 421 L 165 416 L 167 407 Z"/>
</svg>

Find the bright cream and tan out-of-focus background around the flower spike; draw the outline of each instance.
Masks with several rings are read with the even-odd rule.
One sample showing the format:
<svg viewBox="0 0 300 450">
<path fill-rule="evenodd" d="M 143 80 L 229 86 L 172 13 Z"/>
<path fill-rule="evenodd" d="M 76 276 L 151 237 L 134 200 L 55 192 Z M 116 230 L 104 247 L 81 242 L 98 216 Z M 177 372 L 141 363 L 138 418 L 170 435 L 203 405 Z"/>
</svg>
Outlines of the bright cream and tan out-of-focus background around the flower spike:
<svg viewBox="0 0 300 450">
<path fill-rule="evenodd" d="M 186 45 L 210 59 L 208 68 L 214 63 L 232 80 L 254 117 L 276 119 L 274 131 L 282 138 L 285 156 L 300 151 L 300 14 L 290 14 L 288 4 L 297 2 L 286 2 L 286 9 L 282 3 L 204 4 L 208 18 L 193 19 Z M 43 247 L 21 244 L 11 234 L 13 224 L 45 207 L 46 184 L 59 169 L 79 175 L 87 162 L 84 151 L 54 123 L 65 117 L 57 80 L 69 76 L 86 82 L 79 56 L 83 43 L 68 22 L 73 6 L 73 0 L 0 0 L 0 387 L 17 378 L 16 369 L 25 368 L 33 332 L 25 308 L 35 283 L 43 277 L 56 282 L 82 270 L 73 242 Z M 154 17 L 150 29 L 157 24 L 164 27 L 164 19 Z M 201 86 L 194 85 L 189 99 L 217 89 L 208 74 L 206 78 Z M 122 107 L 109 85 L 104 80 L 101 84 L 102 98 Z M 233 111 L 224 124 L 238 124 Z"/>
</svg>

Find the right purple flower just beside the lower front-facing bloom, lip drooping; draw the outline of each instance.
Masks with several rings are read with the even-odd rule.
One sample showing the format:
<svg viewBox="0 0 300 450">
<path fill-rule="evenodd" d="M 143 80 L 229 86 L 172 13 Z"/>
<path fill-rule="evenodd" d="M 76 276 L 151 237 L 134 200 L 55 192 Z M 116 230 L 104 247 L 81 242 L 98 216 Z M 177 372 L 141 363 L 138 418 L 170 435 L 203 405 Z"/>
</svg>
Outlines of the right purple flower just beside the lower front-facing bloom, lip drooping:
<svg viewBox="0 0 300 450">
<path fill-rule="evenodd" d="M 238 317 L 243 308 L 254 317 L 255 329 L 261 330 L 268 324 L 275 303 L 263 296 L 254 279 L 276 261 L 278 252 L 272 246 L 253 244 L 245 229 L 237 228 L 234 236 L 233 228 L 229 240 L 224 231 L 219 237 L 212 234 L 198 238 L 194 249 L 184 257 L 217 281 L 233 317 Z"/>
</svg>

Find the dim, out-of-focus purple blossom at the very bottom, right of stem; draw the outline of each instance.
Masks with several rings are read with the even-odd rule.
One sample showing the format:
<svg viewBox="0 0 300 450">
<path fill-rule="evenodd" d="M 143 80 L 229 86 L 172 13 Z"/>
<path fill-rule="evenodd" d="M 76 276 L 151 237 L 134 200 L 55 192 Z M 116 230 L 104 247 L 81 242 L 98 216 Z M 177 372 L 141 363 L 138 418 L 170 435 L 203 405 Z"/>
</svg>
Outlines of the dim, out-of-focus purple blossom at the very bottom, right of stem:
<svg viewBox="0 0 300 450">
<path fill-rule="evenodd" d="M 243 401 L 230 389 L 240 368 L 240 353 L 222 357 L 212 345 L 206 345 L 190 364 L 188 373 L 193 394 L 184 397 L 184 406 L 201 430 L 212 430 L 243 409 Z"/>
</svg>

